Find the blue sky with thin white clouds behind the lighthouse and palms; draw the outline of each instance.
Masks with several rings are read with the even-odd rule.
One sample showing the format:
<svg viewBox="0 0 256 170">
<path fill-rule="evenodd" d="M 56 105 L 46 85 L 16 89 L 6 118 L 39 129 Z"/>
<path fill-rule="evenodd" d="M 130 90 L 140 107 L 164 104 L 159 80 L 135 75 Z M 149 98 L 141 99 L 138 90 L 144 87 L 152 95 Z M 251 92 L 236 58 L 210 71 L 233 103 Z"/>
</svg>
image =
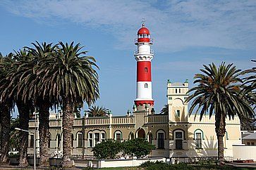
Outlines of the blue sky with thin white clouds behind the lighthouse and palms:
<svg viewBox="0 0 256 170">
<path fill-rule="evenodd" d="M 142 18 L 154 39 L 156 112 L 167 103 L 167 79 L 188 79 L 193 87 L 204 64 L 255 66 L 250 61 L 256 59 L 255 0 L 1 0 L 0 52 L 6 55 L 35 41 L 80 43 L 99 66 L 95 105 L 126 115 L 136 97 L 133 51 Z"/>
</svg>

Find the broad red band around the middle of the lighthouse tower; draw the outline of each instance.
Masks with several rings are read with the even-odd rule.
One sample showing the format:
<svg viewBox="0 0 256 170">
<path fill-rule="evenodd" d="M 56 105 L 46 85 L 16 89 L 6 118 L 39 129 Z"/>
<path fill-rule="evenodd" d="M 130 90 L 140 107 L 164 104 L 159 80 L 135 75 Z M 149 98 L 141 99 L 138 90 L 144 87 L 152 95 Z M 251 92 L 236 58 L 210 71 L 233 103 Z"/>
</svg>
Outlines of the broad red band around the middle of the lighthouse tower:
<svg viewBox="0 0 256 170">
<path fill-rule="evenodd" d="M 151 81 L 151 62 L 138 61 L 137 62 L 137 82 Z"/>
</svg>

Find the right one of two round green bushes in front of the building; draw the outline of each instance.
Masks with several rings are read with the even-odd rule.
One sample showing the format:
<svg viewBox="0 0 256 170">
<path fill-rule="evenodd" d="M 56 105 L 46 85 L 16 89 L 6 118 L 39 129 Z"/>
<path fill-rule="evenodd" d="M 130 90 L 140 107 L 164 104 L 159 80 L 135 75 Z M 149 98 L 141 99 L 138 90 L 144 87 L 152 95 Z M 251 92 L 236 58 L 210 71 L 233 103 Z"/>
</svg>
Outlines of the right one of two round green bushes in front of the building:
<svg viewBox="0 0 256 170">
<path fill-rule="evenodd" d="M 130 157 L 145 157 L 149 155 L 151 150 L 154 150 L 155 146 L 147 142 L 145 138 L 134 138 L 123 142 L 123 153 Z"/>
</svg>

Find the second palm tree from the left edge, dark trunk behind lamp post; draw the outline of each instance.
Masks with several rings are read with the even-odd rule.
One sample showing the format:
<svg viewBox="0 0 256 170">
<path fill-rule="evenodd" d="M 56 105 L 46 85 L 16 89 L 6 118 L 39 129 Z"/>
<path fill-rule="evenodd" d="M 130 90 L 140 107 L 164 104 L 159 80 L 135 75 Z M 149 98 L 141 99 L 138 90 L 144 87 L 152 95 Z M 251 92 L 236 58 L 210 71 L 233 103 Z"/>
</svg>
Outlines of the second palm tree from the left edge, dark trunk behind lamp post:
<svg viewBox="0 0 256 170">
<path fill-rule="evenodd" d="M 19 117 L 20 117 L 20 129 L 28 130 L 28 122 L 30 113 L 34 111 L 32 104 L 32 99 L 24 99 L 23 96 L 18 94 L 18 91 L 23 91 L 23 88 L 20 88 L 20 78 L 23 77 L 23 74 L 28 67 L 24 67 L 25 64 L 30 65 L 31 56 L 25 51 L 25 49 L 16 52 L 16 55 L 13 56 L 13 65 L 9 70 L 6 79 L 8 79 L 8 87 L 4 90 L 4 96 L 13 96 L 15 103 L 18 107 Z M 31 67 L 30 67 L 31 68 Z M 22 82 L 22 81 L 21 81 Z M 25 87 L 25 86 L 23 86 Z M 11 90 L 10 90 L 11 89 Z M 20 133 L 20 166 L 27 165 L 27 150 L 28 150 L 28 133 L 25 131 L 19 131 Z"/>
</svg>

